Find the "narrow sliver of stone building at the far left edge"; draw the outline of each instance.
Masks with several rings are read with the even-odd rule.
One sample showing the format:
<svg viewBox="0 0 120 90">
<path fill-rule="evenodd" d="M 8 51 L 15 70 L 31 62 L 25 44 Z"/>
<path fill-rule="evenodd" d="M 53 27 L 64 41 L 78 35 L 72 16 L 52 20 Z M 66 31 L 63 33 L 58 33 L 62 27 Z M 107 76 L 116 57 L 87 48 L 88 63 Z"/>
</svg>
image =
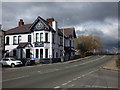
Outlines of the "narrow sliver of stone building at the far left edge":
<svg viewBox="0 0 120 90">
<path fill-rule="evenodd" d="M 0 25 L 0 59 L 4 56 L 4 31 Z"/>
</svg>

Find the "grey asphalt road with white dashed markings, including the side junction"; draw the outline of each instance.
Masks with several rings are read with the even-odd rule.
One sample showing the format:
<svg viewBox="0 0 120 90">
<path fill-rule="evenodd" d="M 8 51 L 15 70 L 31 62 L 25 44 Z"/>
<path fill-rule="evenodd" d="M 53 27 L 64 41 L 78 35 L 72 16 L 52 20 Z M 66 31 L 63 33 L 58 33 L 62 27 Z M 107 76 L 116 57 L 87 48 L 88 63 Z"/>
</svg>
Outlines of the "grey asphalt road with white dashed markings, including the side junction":
<svg viewBox="0 0 120 90">
<path fill-rule="evenodd" d="M 93 56 L 73 63 L 56 63 L 3 70 L 3 88 L 117 88 L 118 72 L 101 68 L 115 56 Z"/>
</svg>

